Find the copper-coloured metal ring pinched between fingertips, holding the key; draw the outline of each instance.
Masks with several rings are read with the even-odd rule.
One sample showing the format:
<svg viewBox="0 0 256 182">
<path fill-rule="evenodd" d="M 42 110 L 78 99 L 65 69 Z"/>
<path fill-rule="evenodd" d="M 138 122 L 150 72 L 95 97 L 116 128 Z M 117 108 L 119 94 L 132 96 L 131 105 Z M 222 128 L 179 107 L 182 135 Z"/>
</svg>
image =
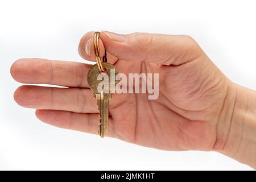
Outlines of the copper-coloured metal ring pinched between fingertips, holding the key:
<svg viewBox="0 0 256 182">
<path fill-rule="evenodd" d="M 104 72 L 104 68 L 102 66 L 102 61 L 101 61 L 101 57 L 100 57 L 100 44 L 98 42 L 100 36 L 100 32 L 95 32 L 93 35 L 93 43 L 94 43 L 94 52 L 96 55 L 96 62 L 98 65 L 98 69 L 100 69 L 101 72 Z M 108 60 L 106 58 L 106 51 L 105 51 L 105 55 L 102 57 L 103 62 L 106 63 Z"/>
</svg>

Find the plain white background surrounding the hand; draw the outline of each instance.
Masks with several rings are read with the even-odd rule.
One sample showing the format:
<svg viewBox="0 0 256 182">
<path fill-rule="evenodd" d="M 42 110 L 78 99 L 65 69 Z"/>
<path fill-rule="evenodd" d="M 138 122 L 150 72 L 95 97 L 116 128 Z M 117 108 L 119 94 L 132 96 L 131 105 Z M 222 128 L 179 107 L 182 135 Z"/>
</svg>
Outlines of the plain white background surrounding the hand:
<svg viewBox="0 0 256 182">
<path fill-rule="evenodd" d="M 160 151 L 49 126 L 18 106 L 21 57 L 85 62 L 85 32 L 193 36 L 231 80 L 256 89 L 255 1 L 0 0 L 0 169 L 251 169 L 217 152 Z"/>
</svg>

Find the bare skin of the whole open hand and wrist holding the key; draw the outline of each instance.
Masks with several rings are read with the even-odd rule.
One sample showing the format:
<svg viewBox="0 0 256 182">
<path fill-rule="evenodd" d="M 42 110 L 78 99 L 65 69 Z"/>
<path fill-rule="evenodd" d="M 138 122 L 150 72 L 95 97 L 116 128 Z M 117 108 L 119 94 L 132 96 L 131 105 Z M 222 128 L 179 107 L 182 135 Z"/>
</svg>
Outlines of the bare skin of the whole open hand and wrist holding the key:
<svg viewBox="0 0 256 182">
<path fill-rule="evenodd" d="M 93 33 L 79 53 L 95 60 Z M 104 43 L 104 46 L 103 46 Z M 119 73 L 159 73 L 159 98 L 113 94 L 109 137 L 161 150 L 218 151 L 256 168 L 256 94 L 230 81 L 186 35 L 101 32 L 101 56 Z M 91 65 L 71 61 L 19 59 L 13 78 L 24 84 L 15 101 L 36 109 L 50 125 L 97 134 L 99 118 L 87 83 Z"/>
</svg>

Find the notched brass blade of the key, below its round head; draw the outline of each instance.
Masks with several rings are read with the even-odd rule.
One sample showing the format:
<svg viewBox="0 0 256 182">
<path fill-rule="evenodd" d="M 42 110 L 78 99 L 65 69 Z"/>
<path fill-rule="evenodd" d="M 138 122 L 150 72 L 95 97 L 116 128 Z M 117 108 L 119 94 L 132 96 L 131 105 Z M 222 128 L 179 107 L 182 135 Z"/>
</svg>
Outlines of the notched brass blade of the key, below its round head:
<svg viewBox="0 0 256 182">
<path fill-rule="evenodd" d="M 100 111 L 100 128 L 98 134 L 104 138 L 108 133 L 108 120 L 109 120 L 109 99 L 110 94 L 96 93 L 96 100 L 98 104 L 98 110 Z"/>
</svg>

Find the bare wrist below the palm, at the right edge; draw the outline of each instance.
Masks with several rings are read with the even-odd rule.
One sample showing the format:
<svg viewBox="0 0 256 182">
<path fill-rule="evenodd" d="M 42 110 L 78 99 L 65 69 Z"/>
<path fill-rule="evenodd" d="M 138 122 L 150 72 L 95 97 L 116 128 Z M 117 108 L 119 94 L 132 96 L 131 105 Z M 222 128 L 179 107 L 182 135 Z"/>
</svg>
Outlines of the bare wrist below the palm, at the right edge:
<svg viewBox="0 0 256 182">
<path fill-rule="evenodd" d="M 230 82 L 214 150 L 256 168 L 256 92 Z"/>
</svg>

